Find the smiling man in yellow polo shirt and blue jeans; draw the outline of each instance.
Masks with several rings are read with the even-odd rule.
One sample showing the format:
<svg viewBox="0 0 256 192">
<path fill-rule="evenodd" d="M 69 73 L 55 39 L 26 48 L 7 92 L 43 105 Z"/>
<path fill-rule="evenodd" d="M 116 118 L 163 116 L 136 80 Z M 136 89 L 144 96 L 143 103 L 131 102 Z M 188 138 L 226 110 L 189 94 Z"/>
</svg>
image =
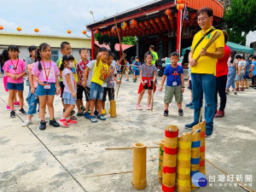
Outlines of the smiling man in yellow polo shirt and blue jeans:
<svg viewBox="0 0 256 192">
<path fill-rule="evenodd" d="M 197 12 L 197 22 L 201 31 L 195 34 L 189 53 L 189 64 L 192 78 L 192 102 L 194 105 L 194 121 L 185 125 L 186 129 L 199 122 L 203 96 L 205 98 L 205 119 L 206 137 L 212 136 L 213 117 L 215 114 L 215 91 L 216 91 L 216 63 L 218 58 L 224 55 L 224 34 L 220 30 L 214 29 L 211 23 L 213 12 L 210 8 L 202 8 Z M 220 32 L 221 36 L 206 50 L 204 49 L 215 32 Z M 202 40 L 201 40 L 202 39 Z M 201 43 L 199 43 L 201 40 Z M 196 62 L 195 58 L 201 55 Z"/>
</svg>

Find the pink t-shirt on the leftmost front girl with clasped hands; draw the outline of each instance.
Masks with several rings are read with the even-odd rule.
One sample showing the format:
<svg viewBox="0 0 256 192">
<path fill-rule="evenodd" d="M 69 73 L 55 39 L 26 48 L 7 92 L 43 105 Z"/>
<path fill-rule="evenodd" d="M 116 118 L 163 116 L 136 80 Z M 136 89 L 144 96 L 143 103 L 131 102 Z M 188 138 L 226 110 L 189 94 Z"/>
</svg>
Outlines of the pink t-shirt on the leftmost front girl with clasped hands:
<svg viewBox="0 0 256 192">
<path fill-rule="evenodd" d="M 6 73 L 11 74 L 21 74 L 25 72 L 26 70 L 26 63 L 23 60 L 16 60 L 16 61 L 6 61 L 3 65 L 3 71 Z M 19 79 L 12 79 L 8 76 L 7 82 L 12 84 L 22 84 L 24 82 L 23 77 L 20 77 Z"/>
</svg>

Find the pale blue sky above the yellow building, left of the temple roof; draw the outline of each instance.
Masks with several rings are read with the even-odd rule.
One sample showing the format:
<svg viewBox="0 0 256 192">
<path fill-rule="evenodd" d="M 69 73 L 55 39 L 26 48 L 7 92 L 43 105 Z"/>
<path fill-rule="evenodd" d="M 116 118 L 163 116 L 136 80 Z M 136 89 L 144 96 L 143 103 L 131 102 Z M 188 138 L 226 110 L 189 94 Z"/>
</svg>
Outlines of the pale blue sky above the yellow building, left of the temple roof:
<svg viewBox="0 0 256 192">
<path fill-rule="evenodd" d="M 3 1 L 3 0 L 1 0 Z M 2 32 L 17 32 L 21 27 L 23 33 L 83 37 L 86 24 L 95 20 L 136 8 L 153 0 L 10 0 L 4 1 L 0 11 Z M 71 30 L 71 34 L 67 34 Z M 1 32 L 1 31 L 0 31 Z M 18 33 L 18 32 L 17 32 Z M 87 32 L 90 35 L 90 32 Z"/>
</svg>

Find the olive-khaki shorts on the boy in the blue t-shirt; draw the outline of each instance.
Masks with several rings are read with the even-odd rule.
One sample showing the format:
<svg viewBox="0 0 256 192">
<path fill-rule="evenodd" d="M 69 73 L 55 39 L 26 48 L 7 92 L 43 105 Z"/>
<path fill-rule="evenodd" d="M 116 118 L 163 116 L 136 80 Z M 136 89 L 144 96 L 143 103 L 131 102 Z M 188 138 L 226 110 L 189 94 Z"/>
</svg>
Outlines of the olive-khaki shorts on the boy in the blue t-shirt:
<svg viewBox="0 0 256 192">
<path fill-rule="evenodd" d="M 182 86 L 167 86 L 166 85 L 166 93 L 165 93 L 165 103 L 171 103 L 172 97 L 175 96 L 175 102 L 183 102 L 183 92 Z"/>
</svg>

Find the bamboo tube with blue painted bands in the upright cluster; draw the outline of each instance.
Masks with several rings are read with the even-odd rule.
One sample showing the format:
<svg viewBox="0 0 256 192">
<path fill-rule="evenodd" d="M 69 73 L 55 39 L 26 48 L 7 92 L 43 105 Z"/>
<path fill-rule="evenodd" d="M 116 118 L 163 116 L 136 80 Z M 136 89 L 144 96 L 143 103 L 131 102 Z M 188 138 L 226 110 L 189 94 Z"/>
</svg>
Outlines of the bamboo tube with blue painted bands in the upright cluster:
<svg viewBox="0 0 256 192">
<path fill-rule="evenodd" d="M 191 143 L 191 171 L 190 177 L 192 179 L 196 172 L 199 172 L 199 161 L 200 161 L 200 146 L 201 146 L 201 129 L 192 133 Z M 198 189 L 191 180 L 191 189 Z"/>
</svg>

